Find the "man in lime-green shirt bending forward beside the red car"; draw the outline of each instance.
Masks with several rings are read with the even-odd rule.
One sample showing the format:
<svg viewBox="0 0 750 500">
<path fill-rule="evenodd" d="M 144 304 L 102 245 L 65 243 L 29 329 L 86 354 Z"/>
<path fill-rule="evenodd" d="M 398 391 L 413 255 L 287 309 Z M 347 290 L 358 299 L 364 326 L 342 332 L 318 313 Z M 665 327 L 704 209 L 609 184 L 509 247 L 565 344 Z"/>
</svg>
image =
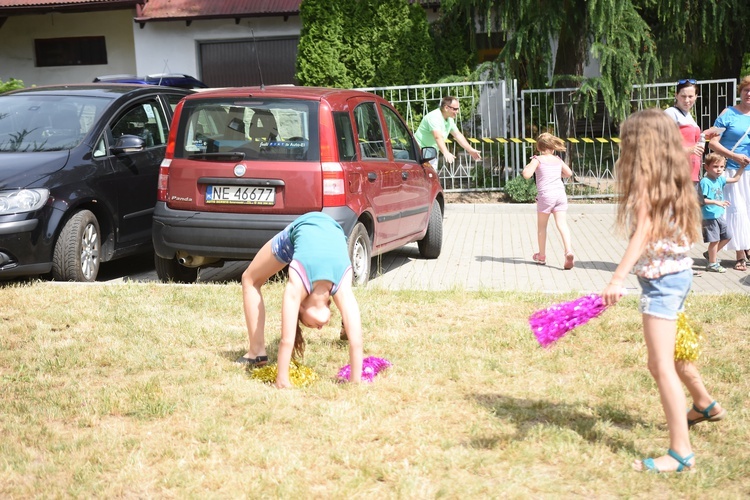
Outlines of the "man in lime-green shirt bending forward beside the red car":
<svg viewBox="0 0 750 500">
<path fill-rule="evenodd" d="M 459 109 L 458 99 L 452 96 L 443 97 L 440 101 L 440 107 L 424 115 L 417 131 L 414 133 L 420 148 L 430 146 L 437 148 L 443 154 L 445 162 L 451 165 L 456 157 L 448 151 L 448 146 L 445 143 L 449 135 L 469 153 L 469 156 L 475 160 L 482 159 L 479 150 L 471 147 L 469 141 L 456 127 L 456 116 L 458 116 Z M 434 168 L 437 168 L 437 163 L 437 158 L 430 161 Z"/>
</svg>

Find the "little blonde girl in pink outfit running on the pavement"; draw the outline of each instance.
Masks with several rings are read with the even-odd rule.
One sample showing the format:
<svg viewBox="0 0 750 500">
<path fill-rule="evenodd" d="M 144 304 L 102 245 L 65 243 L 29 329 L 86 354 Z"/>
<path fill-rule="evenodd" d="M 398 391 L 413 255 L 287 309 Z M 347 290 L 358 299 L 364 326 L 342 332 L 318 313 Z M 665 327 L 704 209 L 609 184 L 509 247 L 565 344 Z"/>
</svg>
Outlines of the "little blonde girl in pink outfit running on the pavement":
<svg viewBox="0 0 750 500">
<path fill-rule="evenodd" d="M 536 235 L 539 252 L 535 253 L 532 259 L 539 265 L 547 264 L 547 225 L 549 216 L 552 214 L 565 248 L 563 269 L 573 269 L 575 257 L 566 218 L 568 196 L 565 193 L 565 184 L 562 182 L 563 177 L 572 177 L 573 171 L 555 154 L 555 151 L 565 151 L 565 142 L 559 137 L 544 132 L 536 139 L 536 150 L 539 154 L 532 156 L 531 161 L 521 172 L 524 179 L 536 176 Z"/>
</svg>

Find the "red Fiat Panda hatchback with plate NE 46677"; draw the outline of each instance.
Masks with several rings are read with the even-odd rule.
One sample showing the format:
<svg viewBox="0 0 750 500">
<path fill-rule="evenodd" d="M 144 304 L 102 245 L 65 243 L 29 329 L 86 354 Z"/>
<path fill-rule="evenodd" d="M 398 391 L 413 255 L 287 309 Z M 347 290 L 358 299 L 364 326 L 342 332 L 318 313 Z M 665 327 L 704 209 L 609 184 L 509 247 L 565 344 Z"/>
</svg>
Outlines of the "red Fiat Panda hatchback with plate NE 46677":
<svg viewBox="0 0 750 500">
<path fill-rule="evenodd" d="M 443 192 L 423 148 L 385 99 L 342 89 L 217 89 L 177 106 L 161 164 L 153 241 L 163 281 L 251 259 L 299 215 L 348 235 L 356 284 L 371 258 L 410 242 L 437 258 Z"/>
</svg>

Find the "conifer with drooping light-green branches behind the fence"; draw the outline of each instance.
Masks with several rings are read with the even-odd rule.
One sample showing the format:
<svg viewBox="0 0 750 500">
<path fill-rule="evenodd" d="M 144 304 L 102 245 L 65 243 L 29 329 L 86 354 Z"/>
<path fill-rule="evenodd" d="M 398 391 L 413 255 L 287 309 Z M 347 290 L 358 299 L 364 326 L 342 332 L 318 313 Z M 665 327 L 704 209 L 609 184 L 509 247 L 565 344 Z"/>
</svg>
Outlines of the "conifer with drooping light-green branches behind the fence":
<svg viewBox="0 0 750 500">
<path fill-rule="evenodd" d="M 584 100 L 585 93 L 601 92 L 615 117 L 629 111 L 632 86 L 659 71 L 649 27 L 632 0 L 444 0 L 443 6 L 468 10 L 505 33 L 498 62 L 522 87 L 577 87 Z M 590 54 L 599 58 L 602 76 L 586 81 Z"/>
</svg>

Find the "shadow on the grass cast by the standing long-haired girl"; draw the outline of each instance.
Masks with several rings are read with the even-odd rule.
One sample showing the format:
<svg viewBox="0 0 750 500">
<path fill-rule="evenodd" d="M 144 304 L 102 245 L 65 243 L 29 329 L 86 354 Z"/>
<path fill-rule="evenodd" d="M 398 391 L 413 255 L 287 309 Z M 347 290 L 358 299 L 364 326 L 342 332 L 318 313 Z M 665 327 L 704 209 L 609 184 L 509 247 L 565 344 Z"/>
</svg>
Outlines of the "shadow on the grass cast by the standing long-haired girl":
<svg viewBox="0 0 750 500">
<path fill-rule="evenodd" d="M 475 394 L 473 399 L 497 418 L 507 420 L 516 427 L 516 433 L 508 439 L 484 437 L 472 441 L 472 446 L 481 448 L 494 448 L 500 441 L 522 441 L 534 427 L 543 425 L 570 429 L 586 441 L 604 443 L 613 452 L 625 450 L 630 454 L 637 454 L 639 450 L 633 447 L 630 439 L 607 435 L 597 428 L 597 424 L 606 421 L 619 429 L 632 429 L 636 425 L 650 423 L 634 419 L 621 408 L 610 405 L 594 407 L 589 413 L 580 411 L 579 405 L 519 399 L 500 394 Z"/>
</svg>

